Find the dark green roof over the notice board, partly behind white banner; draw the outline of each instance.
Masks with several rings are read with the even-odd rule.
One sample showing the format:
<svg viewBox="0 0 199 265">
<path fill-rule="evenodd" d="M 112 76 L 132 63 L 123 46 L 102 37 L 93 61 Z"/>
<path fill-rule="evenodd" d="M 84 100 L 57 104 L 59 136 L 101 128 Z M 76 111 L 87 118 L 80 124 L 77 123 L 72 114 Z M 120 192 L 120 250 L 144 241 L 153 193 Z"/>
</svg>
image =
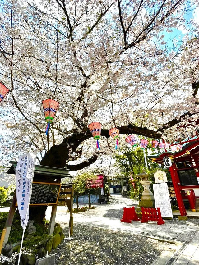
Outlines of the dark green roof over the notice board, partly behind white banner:
<svg viewBox="0 0 199 265">
<path fill-rule="evenodd" d="M 10 161 L 12 166 L 8 169 L 8 174 L 15 174 L 15 169 L 18 161 Z M 53 176 L 61 178 L 72 178 L 68 173 L 68 169 L 58 168 L 58 167 L 47 167 L 41 165 L 35 165 L 34 175 L 43 175 L 43 176 Z"/>
</svg>

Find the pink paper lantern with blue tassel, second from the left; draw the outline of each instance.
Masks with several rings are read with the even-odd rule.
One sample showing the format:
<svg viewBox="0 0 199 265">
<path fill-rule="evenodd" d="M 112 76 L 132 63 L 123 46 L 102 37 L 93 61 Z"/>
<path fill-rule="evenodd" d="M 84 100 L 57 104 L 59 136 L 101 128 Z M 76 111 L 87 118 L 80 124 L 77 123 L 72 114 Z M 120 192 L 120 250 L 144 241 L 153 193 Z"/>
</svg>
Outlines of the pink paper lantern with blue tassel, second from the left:
<svg viewBox="0 0 199 265">
<path fill-rule="evenodd" d="M 53 122 L 54 117 L 58 111 L 59 102 L 51 98 L 48 98 L 48 99 L 42 100 L 42 105 L 44 108 L 45 121 L 48 122 L 48 126 L 46 128 L 46 135 L 47 135 L 48 130 L 49 130 L 49 125 L 50 123 Z"/>
</svg>

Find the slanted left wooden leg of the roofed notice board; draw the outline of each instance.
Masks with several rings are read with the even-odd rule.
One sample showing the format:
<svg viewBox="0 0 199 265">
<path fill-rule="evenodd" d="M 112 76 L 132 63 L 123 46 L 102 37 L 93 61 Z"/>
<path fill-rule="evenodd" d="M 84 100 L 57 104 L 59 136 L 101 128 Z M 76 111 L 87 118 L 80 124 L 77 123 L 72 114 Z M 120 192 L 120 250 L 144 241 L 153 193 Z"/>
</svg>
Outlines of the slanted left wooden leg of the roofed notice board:
<svg viewBox="0 0 199 265">
<path fill-rule="evenodd" d="M 8 237 L 10 235 L 12 221 L 13 221 L 13 218 L 14 218 L 14 215 L 15 215 L 15 210 L 16 210 L 16 206 L 15 205 L 16 205 L 16 190 L 15 190 L 14 196 L 12 198 L 12 203 L 11 203 L 10 210 L 8 212 L 8 216 L 7 216 L 7 219 L 6 219 L 5 226 L 4 226 L 4 228 L 6 229 L 6 232 L 5 232 L 5 235 L 4 235 L 3 246 L 5 246 L 5 244 L 7 243 Z M 3 235 L 3 233 L 2 233 L 2 235 Z M 1 239 L 2 239 L 2 235 L 1 235 Z"/>
</svg>

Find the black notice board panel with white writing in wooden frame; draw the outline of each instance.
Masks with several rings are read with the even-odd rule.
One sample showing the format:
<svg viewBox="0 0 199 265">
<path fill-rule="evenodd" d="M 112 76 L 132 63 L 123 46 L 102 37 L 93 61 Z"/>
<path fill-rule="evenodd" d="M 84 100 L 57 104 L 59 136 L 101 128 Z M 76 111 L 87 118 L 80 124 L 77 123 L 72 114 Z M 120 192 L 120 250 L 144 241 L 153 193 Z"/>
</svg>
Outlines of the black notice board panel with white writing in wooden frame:
<svg viewBox="0 0 199 265">
<path fill-rule="evenodd" d="M 57 204 L 61 184 L 33 182 L 30 205 Z"/>
</svg>

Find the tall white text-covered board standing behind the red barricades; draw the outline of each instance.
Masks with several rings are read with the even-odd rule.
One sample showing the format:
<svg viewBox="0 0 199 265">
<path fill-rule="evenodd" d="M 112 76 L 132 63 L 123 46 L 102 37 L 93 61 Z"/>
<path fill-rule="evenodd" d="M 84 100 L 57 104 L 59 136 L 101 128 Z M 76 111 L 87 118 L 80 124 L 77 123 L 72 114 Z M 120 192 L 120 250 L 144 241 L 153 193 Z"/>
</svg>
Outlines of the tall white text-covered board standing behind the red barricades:
<svg viewBox="0 0 199 265">
<path fill-rule="evenodd" d="M 167 183 L 153 184 L 155 208 L 160 207 L 161 216 L 173 217 Z"/>
</svg>

